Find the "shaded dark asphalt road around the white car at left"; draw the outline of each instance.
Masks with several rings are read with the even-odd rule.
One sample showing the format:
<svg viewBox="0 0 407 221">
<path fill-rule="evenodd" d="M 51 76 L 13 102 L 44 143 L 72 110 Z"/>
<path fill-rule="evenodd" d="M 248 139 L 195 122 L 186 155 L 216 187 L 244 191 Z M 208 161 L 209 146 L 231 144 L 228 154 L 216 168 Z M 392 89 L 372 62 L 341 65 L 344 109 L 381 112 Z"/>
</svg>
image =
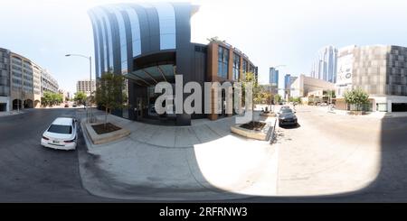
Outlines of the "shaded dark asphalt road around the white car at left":
<svg viewBox="0 0 407 221">
<path fill-rule="evenodd" d="M 43 131 L 58 116 L 76 109 L 32 109 L 0 117 L 1 202 L 108 202 L 82 188 L 78 152 L 43 148 Z M 80 135 L 81 136 L 81 135 Z M 83 146 L 80 137 L 80 145 Z"/>
</svg>

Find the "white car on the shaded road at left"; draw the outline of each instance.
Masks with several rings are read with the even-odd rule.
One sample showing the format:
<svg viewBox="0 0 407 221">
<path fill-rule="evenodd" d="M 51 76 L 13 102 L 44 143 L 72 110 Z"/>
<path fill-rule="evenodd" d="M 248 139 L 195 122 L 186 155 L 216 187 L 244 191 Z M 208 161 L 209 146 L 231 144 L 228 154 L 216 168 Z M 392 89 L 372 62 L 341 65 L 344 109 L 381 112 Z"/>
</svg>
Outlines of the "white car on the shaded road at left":
<svg viewBox="0 0 407 221">
<path fill-rule="evenodd" d="M 77 145 L 76 120 L 59 117 L 43 133 L 41 145 L 56 150 L 75 150 Z"/>
</svg>

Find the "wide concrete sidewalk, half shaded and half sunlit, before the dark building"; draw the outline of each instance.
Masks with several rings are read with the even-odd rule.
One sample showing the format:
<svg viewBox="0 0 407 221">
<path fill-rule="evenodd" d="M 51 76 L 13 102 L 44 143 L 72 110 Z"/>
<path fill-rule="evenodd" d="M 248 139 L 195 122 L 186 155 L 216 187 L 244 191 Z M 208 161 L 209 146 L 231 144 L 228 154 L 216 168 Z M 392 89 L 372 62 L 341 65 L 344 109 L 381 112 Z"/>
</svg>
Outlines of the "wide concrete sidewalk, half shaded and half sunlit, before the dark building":
<svg viewBox="0 0 407 221">
<path fill-rule="evenodd" d="M 231 134 L 234 117 L 201 119 L 192 126 L 142 124 L 114 115 L 109 122 L 131 134 L 93 145 L 83 133 L 89 154 L 80 152 L 80 174 L 94 195 L 220 200 L 276 194 L 277 154 L 268 142 Z"/>
</svg>

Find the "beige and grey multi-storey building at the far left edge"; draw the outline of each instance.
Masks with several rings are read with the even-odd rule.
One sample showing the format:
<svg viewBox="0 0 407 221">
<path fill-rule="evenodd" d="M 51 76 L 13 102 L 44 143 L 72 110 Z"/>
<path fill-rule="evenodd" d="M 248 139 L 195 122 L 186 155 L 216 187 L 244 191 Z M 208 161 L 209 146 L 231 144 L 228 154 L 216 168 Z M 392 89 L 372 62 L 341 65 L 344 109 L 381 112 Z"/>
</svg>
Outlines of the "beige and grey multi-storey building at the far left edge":
<svg viewBox="0 0 407 221">
<path fill-rule="evenodd" d="M 51 74 L 32 60 L 0 49 L 0 111 L 39 107 L 43 90 L 58 92 Z"/>
</svg>

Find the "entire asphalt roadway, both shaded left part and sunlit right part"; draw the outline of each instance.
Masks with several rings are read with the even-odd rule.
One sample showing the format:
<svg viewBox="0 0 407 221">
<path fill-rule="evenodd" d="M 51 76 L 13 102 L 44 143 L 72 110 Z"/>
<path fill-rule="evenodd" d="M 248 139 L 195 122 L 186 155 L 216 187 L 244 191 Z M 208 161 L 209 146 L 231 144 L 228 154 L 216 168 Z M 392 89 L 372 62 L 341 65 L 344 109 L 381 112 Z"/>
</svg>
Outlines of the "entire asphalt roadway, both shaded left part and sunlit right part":
<svg viewBox="0 0 407 221">
<path fill-rule="evenodd" d="M 82 187 L 78 154 L 86 154 L 86 146 L 81 133 L 79 152 L 40 146 L 53 119 L 84 114 L 83 109 L 32 109 L 0 117 L 0 201 L 128 201 L 95 197 Z M 299 125 L 279 128 L 272 146 L 278 154 L 278 179 L 270 185 L 276 186 L 278 198 L 248 195 L 228 201 L 407 199 L 407 118 L 335 115 L 315 106 L 297 106 L 297 115 Z"/>
</svg>

